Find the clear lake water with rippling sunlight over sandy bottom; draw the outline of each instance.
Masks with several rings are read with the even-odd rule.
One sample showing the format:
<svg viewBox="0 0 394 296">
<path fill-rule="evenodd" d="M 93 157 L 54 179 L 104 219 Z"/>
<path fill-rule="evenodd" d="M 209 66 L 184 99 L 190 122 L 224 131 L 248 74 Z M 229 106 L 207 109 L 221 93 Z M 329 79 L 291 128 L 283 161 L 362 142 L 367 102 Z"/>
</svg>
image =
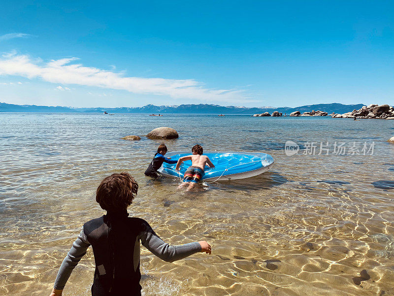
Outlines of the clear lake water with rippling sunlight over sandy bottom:
<svg viewBox="0 0 394 296">
<path fill-rule="evenodd" d="M 263 151 L 275 165 L 178 190 L 177 179 L 143 175 L 160 141 L 120 139 L 160 126 L 180 135 L 170 151 Z M 103 214 L 99 182 L 121 171 L 140 185 L 131 215 L 171 244 L 213 248 L 174 263 L 142 248 L 145 295 L 394 295 L 393 134 L 391 120 L 0 113 L 0 295 L 49 295 L 80 227 Z M 375 146 L 287 156 L 287 140 Z M 89 249 L 64 295 L 90 295 L 93 270 Z"/>
</svg>

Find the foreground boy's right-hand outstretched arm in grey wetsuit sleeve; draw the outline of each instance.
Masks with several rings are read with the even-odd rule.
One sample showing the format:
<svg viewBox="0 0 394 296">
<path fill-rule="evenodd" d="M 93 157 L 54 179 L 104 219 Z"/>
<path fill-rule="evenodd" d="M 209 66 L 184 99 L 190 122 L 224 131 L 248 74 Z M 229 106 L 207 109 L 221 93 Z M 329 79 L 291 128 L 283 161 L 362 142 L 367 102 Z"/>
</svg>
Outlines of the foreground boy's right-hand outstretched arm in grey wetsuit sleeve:
<svg viewBox="0 0 394 296">
<path fill-rule="evenodd" d="M 147 222 L 144 229 L 141 231 L 139 238 L 145 248 L 167 262 L 183 259 L 197 252 L 211 254 L 211 246 L 206 241 L 193 242 L 178 246 L 171 246 L 164 243 L 164 241 L 155 233 L 155 231 L 153 231 Z"/>
</svg>

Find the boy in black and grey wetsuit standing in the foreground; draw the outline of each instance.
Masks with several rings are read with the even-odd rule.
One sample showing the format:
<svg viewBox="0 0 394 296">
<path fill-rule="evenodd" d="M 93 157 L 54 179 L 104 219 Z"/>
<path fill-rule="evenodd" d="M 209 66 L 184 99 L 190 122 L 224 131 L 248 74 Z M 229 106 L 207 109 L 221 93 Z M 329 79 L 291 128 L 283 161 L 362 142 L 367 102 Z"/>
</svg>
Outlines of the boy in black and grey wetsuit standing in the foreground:
<svg viewBox="0 0 394 296">
<path fill-rule="evenodd" d="M 60 266 L 50 296 L 61 296 L 66 282 L 91 245 L 96 269 L 92 296 L 140 296 L 140 241 L 149 251 L 167 262 L 197 252 L 211 254 L 206 241 L 169 245 L 143 219 L 128 217 L 127 207 L 137 194 L 138 184 L 128 173 L 112 174 L 101 181 L 96 201 L 107 213 L 86 222 Z"/>
</svg>

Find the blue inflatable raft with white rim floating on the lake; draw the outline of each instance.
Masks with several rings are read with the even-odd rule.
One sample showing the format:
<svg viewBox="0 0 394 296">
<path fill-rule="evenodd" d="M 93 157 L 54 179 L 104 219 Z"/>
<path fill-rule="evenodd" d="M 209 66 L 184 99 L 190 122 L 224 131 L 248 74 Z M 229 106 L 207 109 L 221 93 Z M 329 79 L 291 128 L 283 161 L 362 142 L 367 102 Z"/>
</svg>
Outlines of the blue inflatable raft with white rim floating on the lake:
<svg viewBox="0 0 394 296">
<path fill-rule="evenodd" d="M 190 152 L 168 152 L 165 157 L 171 157 L 176 160 L 179 157 L 190 155 Z M 274 159 L 267 153 L 259 152 L 233 152 L 233 151 L 206 151 L 204 155 L 208 156 L 215 165 L 213 169 L 205 166 L 205 175 L 201 180 L 204 181 L 226 181 L 254 177 L 263 174 L 274 164 Z M 189 166 L 191 160 L 184 161 L 179 168 L 175 170 L 176 164 L 163 163 L 159 169 L 161 175 L 166 177 L 176 177 L 183 179 L 183 175 Z"/>
</svg>

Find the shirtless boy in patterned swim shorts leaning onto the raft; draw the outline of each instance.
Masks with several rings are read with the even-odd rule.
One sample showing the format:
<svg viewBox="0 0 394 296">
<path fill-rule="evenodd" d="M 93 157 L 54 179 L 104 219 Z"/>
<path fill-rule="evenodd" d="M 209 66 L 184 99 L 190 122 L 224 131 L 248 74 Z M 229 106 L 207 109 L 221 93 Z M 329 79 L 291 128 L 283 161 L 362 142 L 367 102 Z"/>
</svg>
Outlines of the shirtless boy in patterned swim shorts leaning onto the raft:
<svg viewBox="0 0 394 296">
<path fill-rule="evenodd" d="M 182 162 L 185 160 L 192 160 L 192 166 L 190 166 L 183 177 L 183 182 L 180 187 L 187 185 L 189 183 L 189 188 L 192 189 L 194 185 L 198 181 L 201 180 L 202 176 L 204 176 L 204 168 L 205 165 L 207 164 L 210 168 L 214 168 L 215 166 L 211 162 L 211 160 L 208 158 L 208 156 L 202 155 L 202 147 L 200 145 L 195 145 L 192 148 L 192 155 L 187 155 L 180 157 L 178 159 L 178 162 L 176 163 L 176 168 L 175 170 L 179 170 L 179 167 Z"/>
</svg>

